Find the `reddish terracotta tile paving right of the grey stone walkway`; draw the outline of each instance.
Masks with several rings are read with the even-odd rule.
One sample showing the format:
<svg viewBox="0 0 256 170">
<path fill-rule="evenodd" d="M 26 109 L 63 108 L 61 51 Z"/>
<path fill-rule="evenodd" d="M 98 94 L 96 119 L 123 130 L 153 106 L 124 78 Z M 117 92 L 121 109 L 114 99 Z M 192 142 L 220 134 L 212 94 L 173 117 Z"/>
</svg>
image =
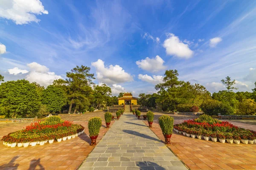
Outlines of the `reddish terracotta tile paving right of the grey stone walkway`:
<svg viewBox="0 0 256 170">
<path fill-rule="evenodd" d="M 152 126 L 150 129 L 164 141 L 158 121 Z M 191 170 L 256 170 L 256 144 L 222 144 L 177 133 L 172 134 L 171 143 L 166 146 Z"/>
</svg>

